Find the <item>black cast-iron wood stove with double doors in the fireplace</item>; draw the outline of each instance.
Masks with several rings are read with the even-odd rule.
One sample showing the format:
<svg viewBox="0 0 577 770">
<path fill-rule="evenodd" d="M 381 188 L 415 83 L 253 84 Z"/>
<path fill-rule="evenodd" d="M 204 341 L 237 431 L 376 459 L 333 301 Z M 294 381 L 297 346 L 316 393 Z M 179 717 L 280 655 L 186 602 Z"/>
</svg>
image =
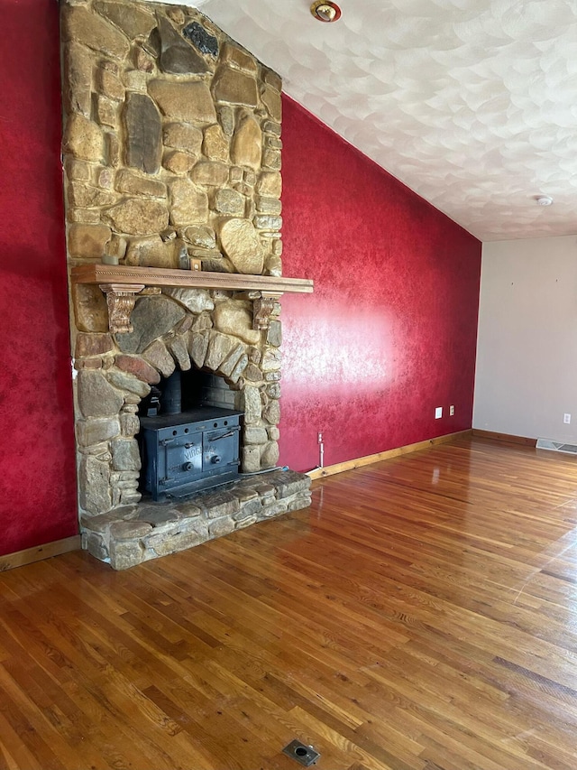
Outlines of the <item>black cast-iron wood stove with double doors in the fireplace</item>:
<svg viewBox="0 0 577 770">
<path fill-rule="evenodd" d="M 185 497 L 238 477 L 242 412 L 199 406 L 141 417 L 146 491 L 153 500 Z"/>
</svg>

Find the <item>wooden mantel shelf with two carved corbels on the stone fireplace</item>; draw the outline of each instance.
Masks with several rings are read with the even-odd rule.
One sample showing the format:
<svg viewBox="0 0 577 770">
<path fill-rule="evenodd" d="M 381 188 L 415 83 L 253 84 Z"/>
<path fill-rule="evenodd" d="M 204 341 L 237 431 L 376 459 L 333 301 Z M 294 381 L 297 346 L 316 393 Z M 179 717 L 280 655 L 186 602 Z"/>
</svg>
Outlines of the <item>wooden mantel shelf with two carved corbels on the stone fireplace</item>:
<svg viewBox="0 0 577 770">
<path fill-rule="evenodd" d="M 132 331 L 130 315 L 138 294 L 145 289 L 169 286 L 173 289 L 221 289 L 250 292 L 253 329 L 267 329 L 274 301 L 285 292 L 311 293 L 313 282 L 306 278 L 277 278 L 271 275 L 203 273 L 160 267 L 131 267 L 124 264 L 81 264 L 72 268 L 72 283 L 96 283 L 105 292 L 108 326 L 113 334 Z"/>
</svg>

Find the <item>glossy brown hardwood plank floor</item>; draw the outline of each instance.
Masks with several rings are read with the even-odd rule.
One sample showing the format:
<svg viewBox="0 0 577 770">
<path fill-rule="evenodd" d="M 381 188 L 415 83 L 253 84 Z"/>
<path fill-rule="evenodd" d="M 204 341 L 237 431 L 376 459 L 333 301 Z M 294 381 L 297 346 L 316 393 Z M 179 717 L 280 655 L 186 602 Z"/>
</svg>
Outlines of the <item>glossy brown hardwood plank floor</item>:
<svg viewBox="0 0 577 770">
<path fill-rule="evenodd" d="M 0 575 L 0 768 L 577 767 L 577 460 L 459 439 L 131 571 Z"/>
</svg>

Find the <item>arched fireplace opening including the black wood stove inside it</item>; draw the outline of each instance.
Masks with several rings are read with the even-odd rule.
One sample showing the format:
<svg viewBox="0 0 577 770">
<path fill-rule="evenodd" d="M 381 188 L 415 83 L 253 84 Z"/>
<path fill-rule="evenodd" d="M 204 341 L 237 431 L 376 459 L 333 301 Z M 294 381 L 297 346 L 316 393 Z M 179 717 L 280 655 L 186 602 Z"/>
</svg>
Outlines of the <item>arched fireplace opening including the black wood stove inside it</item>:
<svg viewBox="0 0 577 770">
<path fill-rule="evenodd" d="M 155 501 L 234 481 L 243 413 L 222 377 L 176 370 L 143 399 L 140 488 Z"/>
</svg>

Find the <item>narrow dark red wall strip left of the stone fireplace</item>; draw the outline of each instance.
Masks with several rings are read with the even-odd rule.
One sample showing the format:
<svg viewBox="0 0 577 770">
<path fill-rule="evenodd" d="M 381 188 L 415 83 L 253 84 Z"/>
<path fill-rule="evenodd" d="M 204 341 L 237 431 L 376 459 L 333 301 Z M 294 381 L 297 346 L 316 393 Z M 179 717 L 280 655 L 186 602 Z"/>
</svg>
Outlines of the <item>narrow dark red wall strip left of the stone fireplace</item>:
<svg viewBox="0 0 577 770">
<path fill-rule="evenodd" d="M 2 0 L 0 553 L 77 533 L 58 4 Z"/>
</svg>

